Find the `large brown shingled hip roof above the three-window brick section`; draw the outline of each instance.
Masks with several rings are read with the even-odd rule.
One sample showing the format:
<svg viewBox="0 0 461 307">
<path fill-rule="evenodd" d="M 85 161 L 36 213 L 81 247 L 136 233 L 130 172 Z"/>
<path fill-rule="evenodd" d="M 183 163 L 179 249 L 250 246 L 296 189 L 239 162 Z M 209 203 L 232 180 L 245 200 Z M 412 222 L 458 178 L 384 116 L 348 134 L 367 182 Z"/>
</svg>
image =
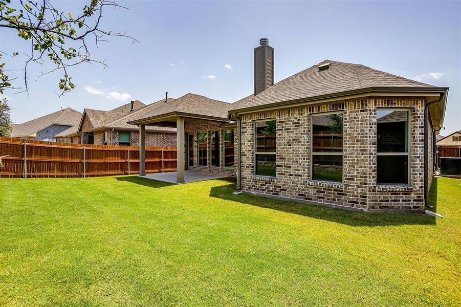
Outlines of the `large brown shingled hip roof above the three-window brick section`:
<svg viewBox="0 0 461 307">
<path fill-rule="evenodd" d="M 331 63 L 330 68 L 319 71 L 319 65 L 326 63 Z M 244 98 L 247 99 L 245 102 L 235 105 L 232 109 L 257 108 L 277 102 L 383 87 L 433 89 L 437 86 L 388 74 L 362 64 L 324 60 L 311 68 L 277 82 L 252 99 Z"/>
</svg>

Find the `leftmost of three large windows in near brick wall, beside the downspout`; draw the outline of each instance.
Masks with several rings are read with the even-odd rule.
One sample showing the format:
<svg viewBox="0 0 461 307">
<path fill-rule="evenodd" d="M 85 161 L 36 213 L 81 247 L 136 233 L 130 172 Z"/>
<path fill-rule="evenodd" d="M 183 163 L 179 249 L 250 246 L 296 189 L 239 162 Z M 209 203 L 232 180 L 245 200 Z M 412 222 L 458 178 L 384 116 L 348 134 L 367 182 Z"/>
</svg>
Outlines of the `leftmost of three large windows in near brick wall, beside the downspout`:
<svg viewBox="0 0 461 307">
<path fill-rule="evenodd" d="M 255 174 L 275 177 L 275 120 L 255 122 Z"/>
</svg>

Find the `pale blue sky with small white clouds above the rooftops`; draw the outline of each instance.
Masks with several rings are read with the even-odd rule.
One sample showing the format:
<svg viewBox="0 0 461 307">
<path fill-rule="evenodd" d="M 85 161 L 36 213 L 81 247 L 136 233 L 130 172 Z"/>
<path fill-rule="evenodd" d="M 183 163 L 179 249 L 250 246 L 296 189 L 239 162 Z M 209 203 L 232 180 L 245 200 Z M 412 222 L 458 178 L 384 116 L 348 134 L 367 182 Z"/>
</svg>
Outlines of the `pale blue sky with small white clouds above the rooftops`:
<svg viewBox="0 0 461 307">
<path fill-rule="evenodd" d="M 76 12 L 85 2 L 57 2 Z M 5 95 L 12 120 L 21 123 L 73 107 L 112 109 L 123 101 L 160 100 L 196 93 L 233 102 L 253 91 L 253 48 L 268 37 L 275 48 L 275 81 L 324 59 L 361 63 L 426 83 L 450 86 L 442 135 L 461 129 L 460 2 L 157 2 L 126 1 L 107 10 L 104 29 L 127 32 L 140 43 L 111 38 L 92 57 L 105 70 L 71 71 L 76 89 L 57 97 L 59 73 L 35 78 L 30 91 Z M 0 30 L 0 50 L 27 52 L 28 43 Z M 6 57 L 11 76 L 23 78 L 25 57 Z M 227 65 L 226 65 L 227 64 Z"/>
</svg>

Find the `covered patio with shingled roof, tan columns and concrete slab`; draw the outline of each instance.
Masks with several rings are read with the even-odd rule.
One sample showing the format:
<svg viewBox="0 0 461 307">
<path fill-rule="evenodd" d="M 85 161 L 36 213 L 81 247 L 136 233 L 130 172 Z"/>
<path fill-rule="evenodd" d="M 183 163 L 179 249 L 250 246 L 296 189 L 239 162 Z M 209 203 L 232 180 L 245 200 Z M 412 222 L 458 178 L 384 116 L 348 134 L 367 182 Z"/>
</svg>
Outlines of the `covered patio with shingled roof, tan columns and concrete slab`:
<svg viewBox="0 0 461 307">
<path fill-rule="evenodd" d="M 139 126 L 139 174 L 141 177 L 170 183 L 186 183 L 235 176 L 234 169 L 226 168 L 223 165 L 220 145 L 223 142 L 221 136 L 224 126 L 222 127 L 222 125 L 231 124 L 227 117 L 227 112 L 231 107 L 230 103 L 195 94 L 186 94 L 171 102 L 158 103 L 160 103 L 159 107 L 153 109 L 152 112 L 128 122 Z M 176 128 L 177 171 L 146 176 L 146 125 Z M 235 123 L 231 126 L 234 127 Z M 214 159 L 210 153 L 210 129 L 215 131 L 217 143 L 221 142 L 215 146 L 216 157 Z M 206 134 L 206 144 L 202 150 L 203 157 L 201 157 L 200 164 L 197 155 L 199 146 L 197 131 L 204 131 Z M 212 159 L 213 161 L 211 161 Z"/>
</svg>

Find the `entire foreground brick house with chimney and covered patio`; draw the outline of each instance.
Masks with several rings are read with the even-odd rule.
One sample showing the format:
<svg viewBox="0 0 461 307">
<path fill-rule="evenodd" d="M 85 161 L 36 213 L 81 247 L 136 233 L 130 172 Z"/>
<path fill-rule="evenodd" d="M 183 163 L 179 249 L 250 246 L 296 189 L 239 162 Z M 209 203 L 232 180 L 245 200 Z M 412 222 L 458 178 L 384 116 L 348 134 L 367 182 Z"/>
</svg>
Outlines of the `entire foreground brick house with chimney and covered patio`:
<svg viewBox="0 0 461 307">
<path fill-rule="evenodd" d="M 233 174 L 256 195 L 423 212 L 448 87 L 332 60 L 273 84 L 273 54 L 261 39 L 251 96 L 226 104 L 187 94 L 128 121 L 141 148 L 146 125 L 176 127 L 178 182 L 184 169 Z"/>
</svg>

